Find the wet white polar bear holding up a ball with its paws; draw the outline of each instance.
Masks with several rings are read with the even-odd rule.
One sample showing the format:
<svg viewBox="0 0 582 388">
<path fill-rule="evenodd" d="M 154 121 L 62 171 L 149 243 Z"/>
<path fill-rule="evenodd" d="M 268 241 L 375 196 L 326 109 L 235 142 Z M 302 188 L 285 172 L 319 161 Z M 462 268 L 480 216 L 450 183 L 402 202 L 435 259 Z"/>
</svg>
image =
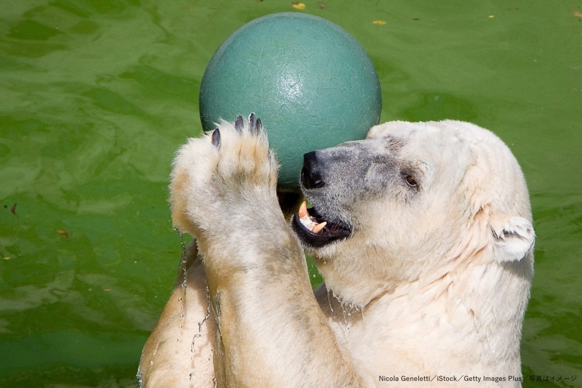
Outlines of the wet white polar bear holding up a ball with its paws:
<svg viewBox="0 0 582 388">
<path fill-rule="evenodd" d="M 474 124 L 388 122 L 304 155 L 279 206 L 260 120 L 178 151 L 172 219 L 196 244 L 148 339 L 144 387 L 519 387 L 530 202 Z M 325 284 L 311 291 L 304 250 Z"/>
</svg>

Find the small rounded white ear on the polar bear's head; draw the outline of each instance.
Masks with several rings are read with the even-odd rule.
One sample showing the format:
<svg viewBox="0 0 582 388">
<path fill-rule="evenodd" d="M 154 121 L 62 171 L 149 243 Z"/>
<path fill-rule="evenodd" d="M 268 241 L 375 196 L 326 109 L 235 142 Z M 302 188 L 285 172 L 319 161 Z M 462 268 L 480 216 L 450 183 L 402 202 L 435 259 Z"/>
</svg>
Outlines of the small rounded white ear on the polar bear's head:
<svg viewBox="0 0 582 388">
<path fill-rule="evenodd" d="M 494 237 L 493 249 L 497 261 L 521 260 L 534 245 L 534 227 L 525 218 L 491 218 L 489 226 Z"/>
</svg>

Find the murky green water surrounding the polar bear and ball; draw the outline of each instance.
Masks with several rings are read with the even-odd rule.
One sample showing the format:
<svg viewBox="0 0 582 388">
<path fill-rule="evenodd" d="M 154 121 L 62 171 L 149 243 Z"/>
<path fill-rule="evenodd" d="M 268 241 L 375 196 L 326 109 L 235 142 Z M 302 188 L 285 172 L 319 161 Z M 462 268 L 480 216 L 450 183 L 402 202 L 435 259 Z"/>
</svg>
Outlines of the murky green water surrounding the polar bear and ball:
<svg viewBox="0 0 582 388">
<path fill-rule="evenodd" d="M 382 120 L 470 120 L 510 145 L 537 233 L 523 373 L 555 376 L 524 386 L 582 386 L 582 3 L 325 6 L 301 12 L 361 42 Z M 0 1 L 0 387 L 134 386 L 176 275 L 166 186 L 200 130 L 204 66 L 244 23 L 289 10 Z"/>
</svg>

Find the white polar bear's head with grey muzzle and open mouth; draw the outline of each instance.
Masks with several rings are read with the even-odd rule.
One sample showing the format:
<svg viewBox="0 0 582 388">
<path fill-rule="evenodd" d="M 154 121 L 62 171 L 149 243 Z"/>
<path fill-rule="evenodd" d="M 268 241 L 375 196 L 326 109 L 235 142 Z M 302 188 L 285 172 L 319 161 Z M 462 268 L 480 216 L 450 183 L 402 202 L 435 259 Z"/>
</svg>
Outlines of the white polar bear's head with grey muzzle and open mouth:
<svg viewBox="0 0 582 388">
<path fill-rule="evenodd" d="M 372 127 L 364 140 L 304 155 L 301 189 L 311 226 L 296 214 L 294 232 L 347 302 L 365 305 L 399 284 L 477 263 L 516 263 L 508 269 L 531 279 L 523 173 L 509 148 L 474 124 Z"/>
</svg>

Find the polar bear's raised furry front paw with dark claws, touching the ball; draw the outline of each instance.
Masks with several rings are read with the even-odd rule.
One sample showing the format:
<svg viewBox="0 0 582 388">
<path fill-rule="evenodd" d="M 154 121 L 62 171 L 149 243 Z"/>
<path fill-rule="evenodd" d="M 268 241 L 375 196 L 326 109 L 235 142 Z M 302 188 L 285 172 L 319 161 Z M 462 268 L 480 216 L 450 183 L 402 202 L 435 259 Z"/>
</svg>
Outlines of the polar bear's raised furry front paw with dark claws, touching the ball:
<svg viewBox="0 0 582 388">
<path fill-rule="evenodd" d="M 178 149 L 171 175 L 172 219 L 196 236 L 227 227 L 248 212 L 243 204 L 276 199 L 277 163 L 254 113 L 190 138 Z"/>
</svg>

